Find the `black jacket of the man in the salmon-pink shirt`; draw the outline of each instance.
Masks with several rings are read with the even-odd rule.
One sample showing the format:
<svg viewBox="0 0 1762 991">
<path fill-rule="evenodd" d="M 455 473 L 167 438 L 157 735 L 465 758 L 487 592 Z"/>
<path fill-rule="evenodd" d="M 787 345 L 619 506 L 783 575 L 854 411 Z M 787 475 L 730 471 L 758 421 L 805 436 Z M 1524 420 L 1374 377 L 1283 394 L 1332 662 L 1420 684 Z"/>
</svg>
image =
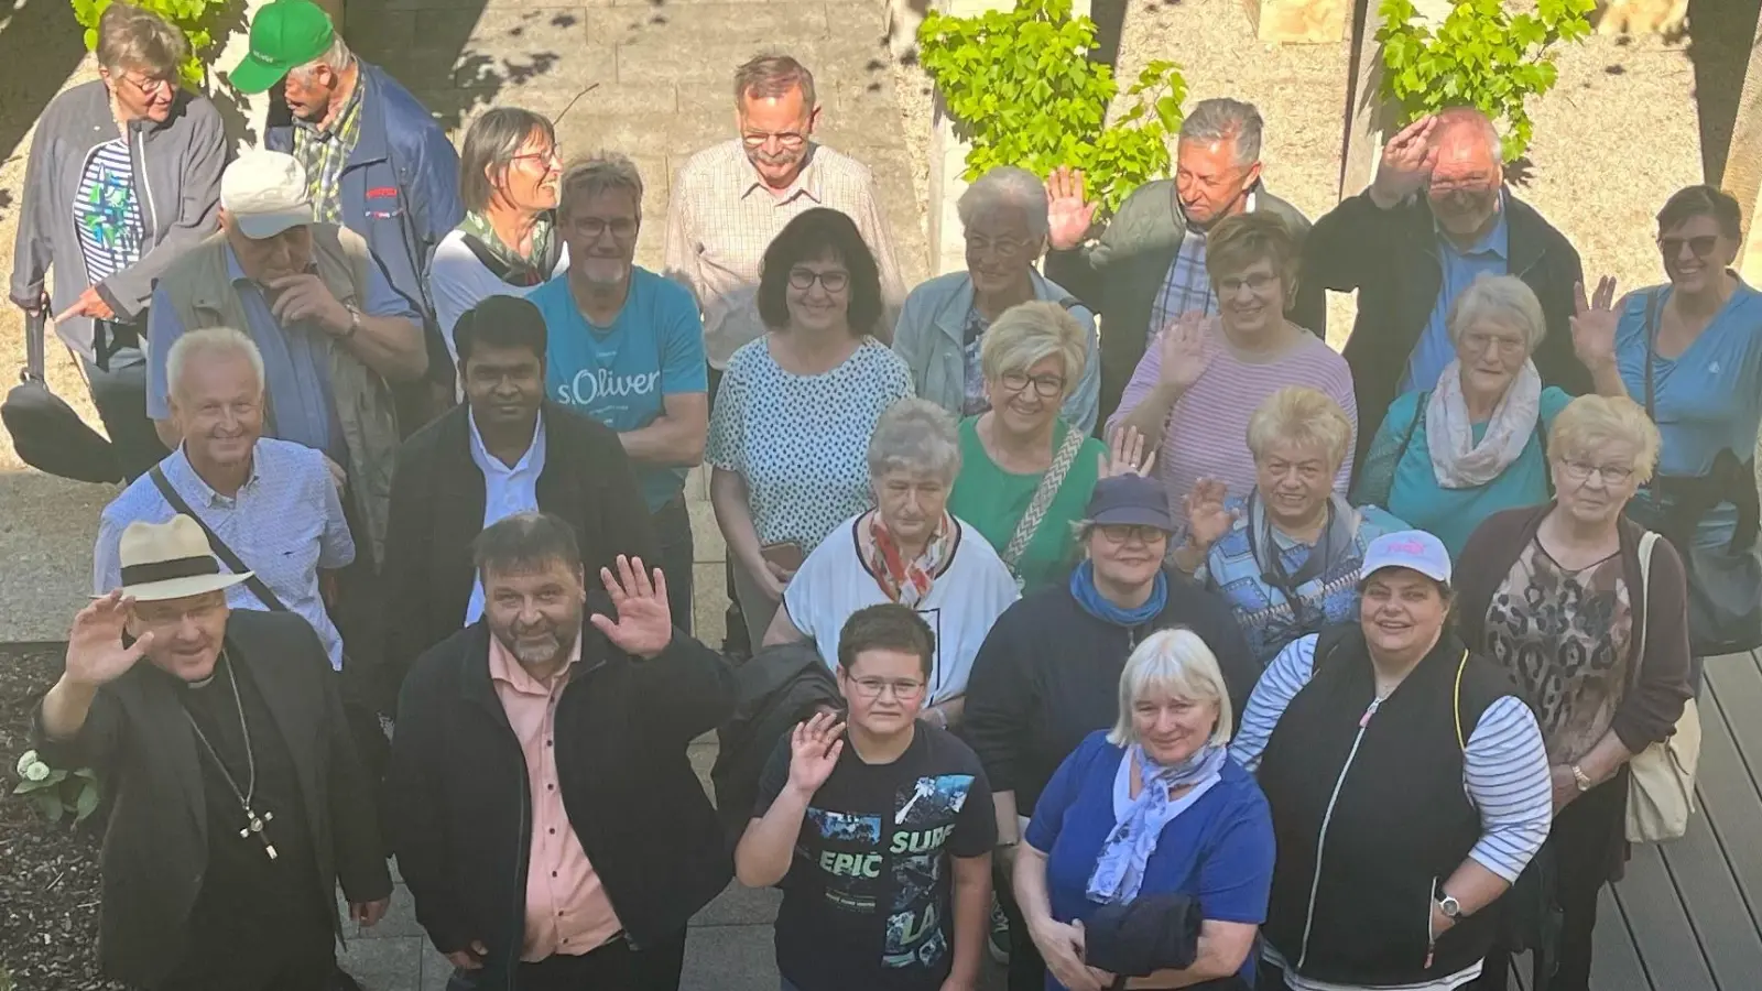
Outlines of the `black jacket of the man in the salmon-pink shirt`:
<svg viewBox="0 0 1762 991">
<path fill-rule="evenodd" d="M 597 594 L 589 607 L 610 612 Z M 581 637 L 557 702 L 557 778 L 569 823 L 641 947 L 680 933 L 733 876 L 685 748 L 729 716 L 735 675 L 678 631 L 647 661 L 590 622 Z M 525 935 L 532 797 L 488 658 L 490 630 L 476 622 L 416 663 L 398 698 L 386 790 L 418 922 L 442 952 L 481 940 L 492 987 L 511 980 Z"/>
</svg>

